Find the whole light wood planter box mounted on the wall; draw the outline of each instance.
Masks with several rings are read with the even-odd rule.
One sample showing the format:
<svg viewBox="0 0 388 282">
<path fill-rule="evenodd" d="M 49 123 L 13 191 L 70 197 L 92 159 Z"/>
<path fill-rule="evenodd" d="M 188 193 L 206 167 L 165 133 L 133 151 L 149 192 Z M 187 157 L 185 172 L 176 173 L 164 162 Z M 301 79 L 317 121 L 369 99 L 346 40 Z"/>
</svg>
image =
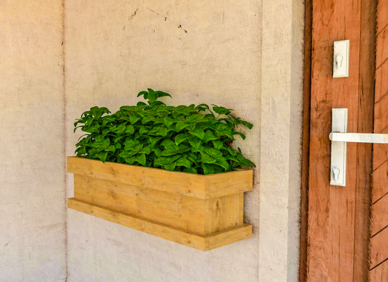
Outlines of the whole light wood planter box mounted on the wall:
<svg viewBox="0 0 388 282">
<path fill-rule="evenodd" d="M 70 156 L 68 208 L 208 251 L 252 236 L 243 223 L 252 170 L 211 175 L 169 172 Z"/>
</svg>

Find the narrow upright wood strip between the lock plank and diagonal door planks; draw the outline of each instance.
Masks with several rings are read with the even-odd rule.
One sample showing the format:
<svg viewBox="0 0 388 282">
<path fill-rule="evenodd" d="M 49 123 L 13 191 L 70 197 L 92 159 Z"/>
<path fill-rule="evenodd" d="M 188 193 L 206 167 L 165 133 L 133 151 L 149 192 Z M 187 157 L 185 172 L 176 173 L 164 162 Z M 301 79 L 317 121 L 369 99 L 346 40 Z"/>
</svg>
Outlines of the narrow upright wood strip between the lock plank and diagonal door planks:
<svg viewBox="0 0 388 282">
<path fill-rule="evenodd" d="M 357 132 L 372 133 L 374 121 L 376 1 L 361 1 Z M 371 232 L 372 144 L 357 144 L 353 279 L 368 281 Z"/>
</svg>

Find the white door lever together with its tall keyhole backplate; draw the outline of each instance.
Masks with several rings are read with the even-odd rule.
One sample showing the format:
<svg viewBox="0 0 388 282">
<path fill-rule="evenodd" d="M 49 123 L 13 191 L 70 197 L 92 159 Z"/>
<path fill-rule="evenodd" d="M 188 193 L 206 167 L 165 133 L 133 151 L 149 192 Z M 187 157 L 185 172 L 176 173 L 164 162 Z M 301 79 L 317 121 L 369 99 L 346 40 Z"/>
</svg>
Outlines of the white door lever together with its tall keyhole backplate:
<svg viewBox="0 0 388 282">
<path fill-rule="evenodd" d="M 330 184 L 346 186 L 346 143 L 388 144 L 388 134 L 347 133 L 348 109 L 331 111 Z"/>
</svg>

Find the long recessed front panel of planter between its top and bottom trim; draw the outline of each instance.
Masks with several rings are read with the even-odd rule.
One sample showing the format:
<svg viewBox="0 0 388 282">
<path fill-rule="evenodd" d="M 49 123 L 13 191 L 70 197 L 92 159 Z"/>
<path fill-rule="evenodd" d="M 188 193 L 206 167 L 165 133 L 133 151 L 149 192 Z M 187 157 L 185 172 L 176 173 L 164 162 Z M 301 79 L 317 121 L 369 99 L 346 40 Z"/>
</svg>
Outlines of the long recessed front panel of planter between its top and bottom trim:
<svg viewBox="0 0 388 282">
<path fill-rule="evenodd" d="M 74 175 L 74 199 L 195 234 L 208 234 L 208 201 Z"/>
</svg>

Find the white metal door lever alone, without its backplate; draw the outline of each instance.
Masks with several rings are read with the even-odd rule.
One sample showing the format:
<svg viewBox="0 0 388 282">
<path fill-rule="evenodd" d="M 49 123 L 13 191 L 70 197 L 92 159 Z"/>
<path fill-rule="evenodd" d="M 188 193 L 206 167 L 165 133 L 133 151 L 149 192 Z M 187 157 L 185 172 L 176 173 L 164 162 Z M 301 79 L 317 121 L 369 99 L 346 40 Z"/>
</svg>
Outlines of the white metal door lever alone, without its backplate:
<svg viewBox="0 0 388 282">
<path fill-rule="evenodd" d="M 331 132 L 331 141 L 388 144 L 388 134 Z"/>
</svg>

